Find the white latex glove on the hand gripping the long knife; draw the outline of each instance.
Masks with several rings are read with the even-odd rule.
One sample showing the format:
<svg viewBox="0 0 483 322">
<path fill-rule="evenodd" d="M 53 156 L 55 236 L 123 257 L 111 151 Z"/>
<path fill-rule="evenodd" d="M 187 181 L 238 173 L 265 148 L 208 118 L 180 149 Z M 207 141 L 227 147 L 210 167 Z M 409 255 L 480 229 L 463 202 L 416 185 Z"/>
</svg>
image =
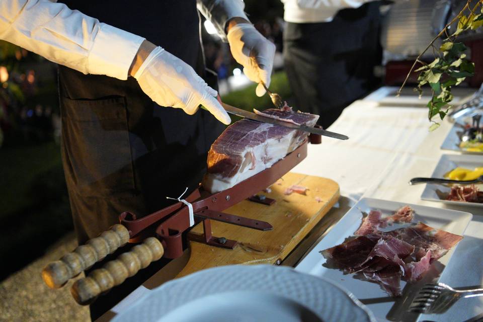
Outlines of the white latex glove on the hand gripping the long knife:
<svg viewBox="0 0 483 322">
<path fill-rule="evenodd" d="M 161 106 L 180 108 L 193 115 L 201 104 L 220 122 L 231 122 L 216 99 L 218 93 L 190 65 L 161 47 L 149 54 L 134 78 L 142 91 Z"/>
</svg>

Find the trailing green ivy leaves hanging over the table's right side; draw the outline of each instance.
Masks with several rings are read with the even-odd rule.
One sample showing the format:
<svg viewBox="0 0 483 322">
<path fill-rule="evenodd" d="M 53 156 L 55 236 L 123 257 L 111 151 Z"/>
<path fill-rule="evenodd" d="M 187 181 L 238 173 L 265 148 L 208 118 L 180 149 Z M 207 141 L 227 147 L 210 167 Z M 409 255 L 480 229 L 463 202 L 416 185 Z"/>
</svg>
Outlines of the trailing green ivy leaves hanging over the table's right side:
<svg viewBox="0 0 483 322">
<path fill-rule="evenodd" d="M 468 0 L 466 6 L 461 10 L 455 20 L 446 25 L 445 29 L 442 30 L 427 47 L 426 50 L 433 47 L 438 57 L 436 57 L 430 64 L 425 64 L 419 60 L 424 52 L 426 52 L 425 50 L 416 59 L 416 62 L 424 64 L 422 67 L 415 70 L 420 71 L 418 76 L 418 87 L 416 90 L 421 95 L 423 92 L 422 86 L 429 85 L 432 91 L 431 101 L 427 104 L 429 109 L 428 119 L 433 122 L 433 125 L 430 127 L 431 131 L 439 127 L 436 118 L 439 116 L 439 119 L 443 120 L 448 113 L 448 110 L 451 108 L 450 102 L 453 100 L 451 88 L 459 85 L 466 79 L 466 77 L 474 75 L 474 63 L 466 58 L 466 46 L 463 43 L 455 42 L 457 36 L 463 31 L 468 29 L 475 30 L 483 26 L 483 6 L 479 8 L 481 2 L 478 0 L 470 10 L 471 2 L 472 0 Z M 476 12 L 476 9 L 479 9 L 479 12 Z M 469 15 L 467 16 L 464 15 L 466 11 L 469 11 Z M 457 21 L 456 31 L 453 34 L 448 35 L 447 28 L 454 23 L 454 21 Z M 444 34 L 447 35 L 447 38 L 439 48 L 435 48 L 433 45 L 435 40 Z"/>
</svg>

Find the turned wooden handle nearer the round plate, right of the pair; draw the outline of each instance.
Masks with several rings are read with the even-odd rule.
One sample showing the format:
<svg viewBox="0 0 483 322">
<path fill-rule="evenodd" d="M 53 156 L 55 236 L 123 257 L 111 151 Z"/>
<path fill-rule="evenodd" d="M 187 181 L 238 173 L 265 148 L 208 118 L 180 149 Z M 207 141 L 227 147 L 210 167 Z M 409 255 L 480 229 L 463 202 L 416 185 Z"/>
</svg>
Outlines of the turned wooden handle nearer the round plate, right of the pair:
<svg viewBox="0 0 483 322">
<path fill-rule="evenodd" d="M 70 293 L 81 305 L 92 303 L 101 293 L 109 291 L 114 286 L 124 282 L 126 278 L 135 275 L 140 269 L 163 257 L 164 249 L 156 237 L 144 239 L 131 251 L 119 255 L 113 261 L 107 262 L 102 268 L 92 271 L 88 277 L 76 280 Z"/>
</svg>

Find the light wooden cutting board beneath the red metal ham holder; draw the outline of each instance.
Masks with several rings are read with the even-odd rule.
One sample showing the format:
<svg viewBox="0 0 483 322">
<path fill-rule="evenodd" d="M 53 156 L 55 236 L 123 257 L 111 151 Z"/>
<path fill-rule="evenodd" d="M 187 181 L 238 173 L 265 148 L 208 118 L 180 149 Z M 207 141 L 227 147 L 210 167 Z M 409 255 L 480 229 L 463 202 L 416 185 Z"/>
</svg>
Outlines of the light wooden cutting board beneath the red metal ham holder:
<svg viewBox="0 0 483 322">
<path fill-rule="evenodd" d="M 308 188 L 305 195 L 284 191 L 291 185 Z M 273 230 L 260 231 L 211 220 L 213 235 L 238 241 L 233 250 L 212 247 L 190 241 L 191 256 L 182 277 L 202 269 L 231 264 L 274 264 L 282 261 L 338 201 L 339 185 L 326 178 L 288 173 L 270 187 L 270 193 L 260 192 L 276 203 L 267 206 L 244 200 L 224 212 L 264 220 Z M 202 224 L 192 230 L 201 234 Z"/>
</svg>

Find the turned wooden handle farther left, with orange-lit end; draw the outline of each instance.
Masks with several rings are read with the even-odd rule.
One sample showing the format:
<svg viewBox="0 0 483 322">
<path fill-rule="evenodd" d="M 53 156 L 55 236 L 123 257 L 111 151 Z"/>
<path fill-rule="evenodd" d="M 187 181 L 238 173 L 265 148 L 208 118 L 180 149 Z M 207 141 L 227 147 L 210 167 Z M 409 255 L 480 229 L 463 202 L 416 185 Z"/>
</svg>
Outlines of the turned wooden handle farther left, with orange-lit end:
<svg viewBox="0 0 483 322">
<path fill-rule="evenodd" d="M 116 224 L 98 237 L 78 246 L 72 253 L 64 255 L 59 261 L 47 264 L 42 271 L 42 278 L 50 288 L 59 288 L 69 279 L 103 260 L 129 241 L 129 231 L 121 224 Z"/>
</svg>

